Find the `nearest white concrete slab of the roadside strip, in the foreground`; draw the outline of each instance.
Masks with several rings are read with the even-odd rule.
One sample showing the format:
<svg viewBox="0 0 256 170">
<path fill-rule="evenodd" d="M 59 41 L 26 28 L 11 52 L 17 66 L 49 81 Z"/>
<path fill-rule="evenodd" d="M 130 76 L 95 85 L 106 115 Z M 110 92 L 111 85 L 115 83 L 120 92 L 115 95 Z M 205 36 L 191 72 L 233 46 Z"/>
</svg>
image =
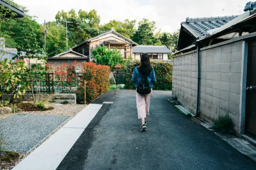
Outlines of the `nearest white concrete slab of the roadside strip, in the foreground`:
<svg viewBox="0 0 256 170">
<path fill-rule="evenodd" d="M 13 170 L 56 170 L 84 129 L 60 128 Z"/>
</svg>

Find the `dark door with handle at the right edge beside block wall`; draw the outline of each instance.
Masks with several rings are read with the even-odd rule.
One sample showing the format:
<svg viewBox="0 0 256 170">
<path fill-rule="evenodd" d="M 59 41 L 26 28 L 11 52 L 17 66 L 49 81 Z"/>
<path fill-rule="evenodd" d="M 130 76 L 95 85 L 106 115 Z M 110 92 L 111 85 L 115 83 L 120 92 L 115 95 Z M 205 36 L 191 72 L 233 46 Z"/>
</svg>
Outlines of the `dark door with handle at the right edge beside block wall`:
<svg viewBox="0 0 256 170">
<path fill-rule="evenodd" d="M 256 42 L 250 43 L 247 63 L 245 133 L 256 138 Z"/>
</svg>

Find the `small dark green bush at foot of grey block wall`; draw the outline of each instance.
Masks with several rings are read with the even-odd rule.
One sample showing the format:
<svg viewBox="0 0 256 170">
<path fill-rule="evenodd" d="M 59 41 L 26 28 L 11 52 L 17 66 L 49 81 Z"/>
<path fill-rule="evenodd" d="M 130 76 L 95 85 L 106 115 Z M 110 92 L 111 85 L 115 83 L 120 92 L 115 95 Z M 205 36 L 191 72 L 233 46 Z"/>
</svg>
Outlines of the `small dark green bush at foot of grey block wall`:
<svg viewBox="0 0 256 170">
<path fill-rule="evenodd" d="M 212 129 L 216 132 L 231 134 L 233 133 L 233 123 L 230 116 L 218 116 L 218 119 L 213 122 Z"/>
</svg>

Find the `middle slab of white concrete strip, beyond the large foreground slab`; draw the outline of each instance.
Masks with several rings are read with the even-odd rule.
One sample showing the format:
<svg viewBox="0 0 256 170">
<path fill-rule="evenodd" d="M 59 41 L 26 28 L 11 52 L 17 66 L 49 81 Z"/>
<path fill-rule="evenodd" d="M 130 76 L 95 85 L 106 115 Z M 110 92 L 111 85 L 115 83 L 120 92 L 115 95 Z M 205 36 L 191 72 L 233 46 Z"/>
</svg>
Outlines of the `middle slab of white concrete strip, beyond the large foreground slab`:
<svg viewBox="0 0 256 170">
<path fill-rule="evenodd" d="M 99 110 L 84 109 L 73 117 L 63 128 L 86 128 Z"/>
</svg>

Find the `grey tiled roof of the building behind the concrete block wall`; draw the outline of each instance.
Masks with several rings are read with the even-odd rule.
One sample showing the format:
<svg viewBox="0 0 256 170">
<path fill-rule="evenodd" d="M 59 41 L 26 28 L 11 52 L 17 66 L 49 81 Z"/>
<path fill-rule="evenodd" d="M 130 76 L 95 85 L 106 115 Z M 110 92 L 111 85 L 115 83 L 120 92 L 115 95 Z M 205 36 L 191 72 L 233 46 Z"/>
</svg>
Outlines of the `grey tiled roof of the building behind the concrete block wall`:
<svg viewBox="0 0 256 170">
<path fill-rule="evenodd" d="M 219 28 L 236 17 L 238 17 L 238 15 L 208 18 L 186 18 L 186 21 L 182 22 L 181 25 L 191 32 L 196 38 L 201 38 L 206 36 L 206 31 Z"/>
</svg>

